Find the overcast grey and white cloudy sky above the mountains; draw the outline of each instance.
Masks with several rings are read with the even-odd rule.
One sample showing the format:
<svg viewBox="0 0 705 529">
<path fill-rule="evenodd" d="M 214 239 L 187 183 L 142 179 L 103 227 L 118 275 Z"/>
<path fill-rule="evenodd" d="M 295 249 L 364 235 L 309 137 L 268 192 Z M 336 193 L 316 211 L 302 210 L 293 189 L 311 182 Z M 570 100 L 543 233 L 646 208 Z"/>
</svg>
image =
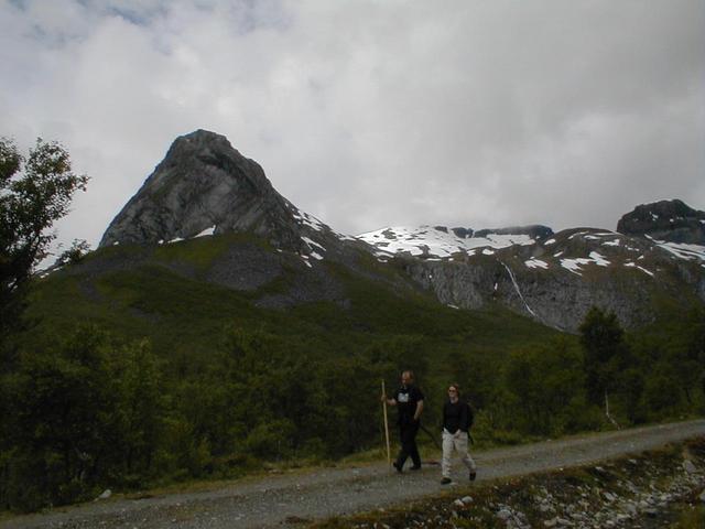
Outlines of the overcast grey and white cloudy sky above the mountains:
<svg viewBox="0 0 705 529">
<path fill-rule="evenodd" d="M 198 128 L 348 234 L 614 229 L 705 209 L 703 28 L 704 0 L 0 0 L 0 136 L 91 177 L 61 240 Z"/>
</svg>

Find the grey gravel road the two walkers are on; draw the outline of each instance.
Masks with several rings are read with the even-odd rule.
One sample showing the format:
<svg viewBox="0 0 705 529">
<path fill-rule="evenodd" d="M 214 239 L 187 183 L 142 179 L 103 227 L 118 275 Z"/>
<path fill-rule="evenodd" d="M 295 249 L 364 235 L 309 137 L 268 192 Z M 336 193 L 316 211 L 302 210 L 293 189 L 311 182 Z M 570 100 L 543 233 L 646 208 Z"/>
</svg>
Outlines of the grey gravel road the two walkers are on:
<svg viewBox="0 0 705 529">
<path fill-rule="evenodd" d="M 705 420 L 492 450 L 477 453 L 475 460 L 481 481 L 582 465 L 698 435 L 705 435 Z M 459 462 L 454 471 L 458 483 L 466 484 L 467 474 Z M 440 477 L 440 468 L 431 465 L 402 475 L 384 464 L 313 469 L 236 482 L 204 493 L 94 503 L 18 517 L 1 522 L 0 528 L 286 527 L 296 520 L 372 510 L 438 493 Z"/>
</svg>

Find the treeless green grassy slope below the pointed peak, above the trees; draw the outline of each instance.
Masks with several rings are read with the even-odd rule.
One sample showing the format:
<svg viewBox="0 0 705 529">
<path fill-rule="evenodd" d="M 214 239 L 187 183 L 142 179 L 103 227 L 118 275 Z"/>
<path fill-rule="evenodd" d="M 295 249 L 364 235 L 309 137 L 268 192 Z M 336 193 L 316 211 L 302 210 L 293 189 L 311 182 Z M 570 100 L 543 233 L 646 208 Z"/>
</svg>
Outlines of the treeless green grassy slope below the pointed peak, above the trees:
<svg viewBox="0 0 705 529">
<path fill-rule="evenodd" d="M 283 273 L 253 291 L 236 291 L 202 279 L 227 248 L 251 239 L 226 236 L 156 249 L 101 249 L 75 270 L 57 271 L 36 285 L 29 315 L 40 322 L 40 332 L 35 330 L 30 339 L 41 339 L 44 330 L 90 322 L 129 339 L 147 337 L 165 358 L 196 359 L 219 345 L 226 327 L 237 326 L 299 336 L 311 341 L 321 354 L 334 356 L 355 354 L 380 338 L 417 335 L 442 345 L 441 349 L 430 347 L 435 357 L 443 349 L 502 352 L 556 334 L 499 306 L 470 312 L 441 305 L 408 284 L 401 272 L 394 277 L 393 269 L 366 258 L 360 260 L 369 277 L 339 263 L 316 263 L 343 285 L 345 303 L 317 301 L 285 310 L 262 309 L 257 300 L 286 291 L 296 274 L 308 270 L 291 263 L 296 256 L 283 256 Z M 264 244 L 262 251 L 268 251 Z M 135 263 L 115 264 L 130 260 Z M 399 284 L 404 288 L 395 288 Z"/>
</svg>

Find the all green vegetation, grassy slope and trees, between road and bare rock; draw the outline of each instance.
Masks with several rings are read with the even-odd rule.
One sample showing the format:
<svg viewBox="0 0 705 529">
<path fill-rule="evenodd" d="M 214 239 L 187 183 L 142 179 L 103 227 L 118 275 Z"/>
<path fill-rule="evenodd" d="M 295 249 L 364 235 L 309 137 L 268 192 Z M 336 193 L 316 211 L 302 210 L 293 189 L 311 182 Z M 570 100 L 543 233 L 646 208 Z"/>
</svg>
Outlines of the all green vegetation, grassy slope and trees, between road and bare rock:
<svg viewBox="0 0 705 529">
<path fill-rule="evenodd" d="M 200 279 L 239 244 L 260 242 L 106 248 L 34 285 L 33 326 L 2 358 L 2 508 L 369 451 L 382 439 L 380 380 L 393 388 L 409 367 L 432 431 L 445 386 L 460 384 L 479 446 L 611 428 L 595 384 L 620 425 L 703 411 L 702 310 L 638 334 L 596 312 L 579 338 L 499 306 L 440 305 L 373 261 L 369 278 L 325 262 L 345 303 L 265 310 L 256 301 L 286 292 L 301 263 L 282 257 L 283 273 L 254 292 Z M 594 361 L 589 337 L 605 326 L 619 347 Z"/>
</svg>

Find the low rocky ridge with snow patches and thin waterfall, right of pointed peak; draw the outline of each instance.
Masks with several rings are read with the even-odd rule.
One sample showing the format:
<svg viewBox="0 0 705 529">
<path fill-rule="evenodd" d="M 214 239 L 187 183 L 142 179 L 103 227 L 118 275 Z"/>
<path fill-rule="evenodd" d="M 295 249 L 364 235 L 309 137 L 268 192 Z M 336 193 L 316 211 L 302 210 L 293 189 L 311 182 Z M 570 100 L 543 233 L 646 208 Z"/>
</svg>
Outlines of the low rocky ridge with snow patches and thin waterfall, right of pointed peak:
<svg viewBox="0 0 705 529">
<path fill-rule="evenodd" d="M 651 223 L 642 228 L 661 234 L 659 219 Z M 705 246 L 595 228 L 462 229 L 391 227 L 359 237 L 379 259 L 401 260 L 442 303 L 477 310 L 498 302 L 561 331 L 575 332 L 593 305 L 639 326 L 663 300 L 705 302 Z"/>
</svg>

